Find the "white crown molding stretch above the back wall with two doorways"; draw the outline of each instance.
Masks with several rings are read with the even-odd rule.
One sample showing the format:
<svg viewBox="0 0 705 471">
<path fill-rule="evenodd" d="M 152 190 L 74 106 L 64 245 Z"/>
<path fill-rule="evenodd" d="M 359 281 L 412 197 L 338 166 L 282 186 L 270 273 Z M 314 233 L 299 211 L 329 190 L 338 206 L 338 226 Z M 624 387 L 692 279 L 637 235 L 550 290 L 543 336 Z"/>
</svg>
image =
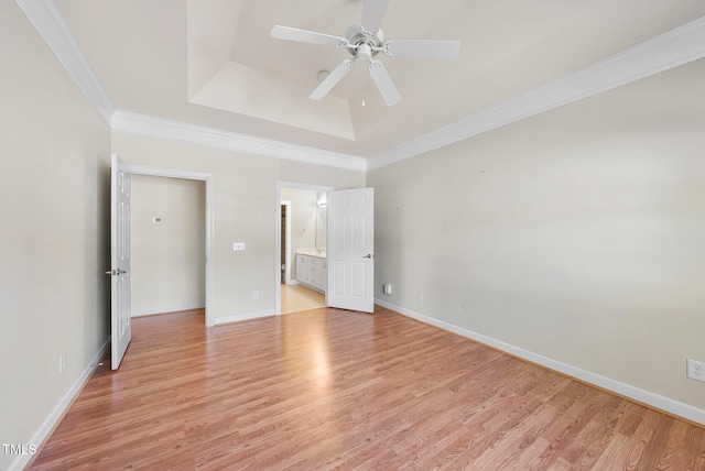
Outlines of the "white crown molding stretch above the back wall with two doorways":
<svg viewBox="0 0 705 471">
<path fill-rule="evenodd" d="M 364 157 L 254 138 L 247 134 L 237 134 L 213 128 L 169 121 L 121 110 L 112 113 L 110 127 L 113 131 L 126 134 L 159 138 L 186 144 L 264 155 L 268 157 L 350 171 L 365 172 L 367 169 L 367 163 Z"/>
</svg>

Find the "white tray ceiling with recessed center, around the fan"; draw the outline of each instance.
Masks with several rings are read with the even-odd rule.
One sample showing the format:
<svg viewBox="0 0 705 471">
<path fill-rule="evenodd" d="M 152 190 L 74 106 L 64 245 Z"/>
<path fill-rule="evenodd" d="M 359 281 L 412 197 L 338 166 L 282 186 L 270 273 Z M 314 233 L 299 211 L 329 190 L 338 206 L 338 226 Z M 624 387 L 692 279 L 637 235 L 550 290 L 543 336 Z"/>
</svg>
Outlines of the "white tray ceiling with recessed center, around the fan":
<svg viewBox="0 0 705 471">
<path fill-rule="evenodd" d="M 17 1 L 26 12 L 30 0 Z M 377 165 L 705 56 L 702 0 L 390 0 L 386 39 L 458 40 L 459 57 L 380 55 L 402 96 L 394 107 L 359 64 L 314 101 L 319 70 L 348 53 L 274 40 L 270 30 L 344 36 L 362 0 L 43 3 L 75 42 L 70 54 L 95 77 L 90 86 L 123 118 L 112 117 L 118 129 L 149 117 Z M 51 35 L 51 25 L 33 23 Z"/>
</svg>

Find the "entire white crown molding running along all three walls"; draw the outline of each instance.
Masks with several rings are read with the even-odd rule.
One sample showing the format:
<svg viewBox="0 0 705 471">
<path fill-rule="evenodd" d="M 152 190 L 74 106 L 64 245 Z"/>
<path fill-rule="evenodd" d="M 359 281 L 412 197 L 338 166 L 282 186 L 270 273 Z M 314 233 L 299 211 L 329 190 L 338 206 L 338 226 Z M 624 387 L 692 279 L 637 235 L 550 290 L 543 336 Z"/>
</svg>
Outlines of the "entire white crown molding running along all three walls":
<svg viewBox="0 0 705 471">
<path fill-rule="evenodd" d="M 705 17 L 365 158 L 116 110 L 54 0 L 15 0 L 113 131 L 359 172 L 380 168 L 705 57 Z"/>
</svg>

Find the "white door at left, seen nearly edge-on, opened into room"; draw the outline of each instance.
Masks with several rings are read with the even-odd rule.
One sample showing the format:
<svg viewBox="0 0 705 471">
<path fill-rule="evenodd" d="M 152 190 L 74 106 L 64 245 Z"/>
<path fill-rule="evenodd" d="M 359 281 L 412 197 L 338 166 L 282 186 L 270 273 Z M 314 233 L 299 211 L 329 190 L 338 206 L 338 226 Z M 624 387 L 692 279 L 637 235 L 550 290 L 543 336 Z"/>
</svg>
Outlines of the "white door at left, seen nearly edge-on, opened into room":
<svg viewBox="0 0 705 471">
<path fill-rule="evenodd" d="M 110 168 L 110 358 L 117 370 L 132 338 L 130 320 L 130 171 L 112 154 Z"/>
</svg>

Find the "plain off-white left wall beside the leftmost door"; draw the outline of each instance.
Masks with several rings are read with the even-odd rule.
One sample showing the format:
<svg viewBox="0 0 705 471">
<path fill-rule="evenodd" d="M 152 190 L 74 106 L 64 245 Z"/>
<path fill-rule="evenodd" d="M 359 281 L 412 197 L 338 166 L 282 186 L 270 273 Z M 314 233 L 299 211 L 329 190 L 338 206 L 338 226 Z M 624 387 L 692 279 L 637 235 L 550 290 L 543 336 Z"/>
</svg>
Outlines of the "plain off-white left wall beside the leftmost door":
<svg viewBox="0 0 705 471">
<path fill-rule="evenodd" d="M 0 443 L 39 446 L 109 336 L 110 135 L 13 1 L 0 32 Z"/>
</svg>

